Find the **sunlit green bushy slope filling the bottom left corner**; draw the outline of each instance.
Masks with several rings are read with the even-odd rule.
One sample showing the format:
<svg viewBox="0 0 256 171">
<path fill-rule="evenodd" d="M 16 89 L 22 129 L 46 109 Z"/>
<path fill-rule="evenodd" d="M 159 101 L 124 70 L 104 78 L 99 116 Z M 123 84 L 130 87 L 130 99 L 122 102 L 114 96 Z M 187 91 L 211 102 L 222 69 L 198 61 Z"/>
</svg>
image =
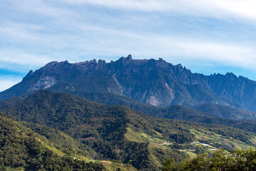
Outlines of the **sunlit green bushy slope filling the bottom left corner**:
<svg viewBox="0 0 256 171">
<path fill-rule="evenodd" d="M 101 164 L 76 160 L 75 157 L 86 158 L 96 153 L 58 130 L 19 123 L 4 113 L 0 113 L 0 128 L 0 168 L 3 170 L 7 167 L 19 167 L 19 170 L 104 170 Z"/>
</svg>

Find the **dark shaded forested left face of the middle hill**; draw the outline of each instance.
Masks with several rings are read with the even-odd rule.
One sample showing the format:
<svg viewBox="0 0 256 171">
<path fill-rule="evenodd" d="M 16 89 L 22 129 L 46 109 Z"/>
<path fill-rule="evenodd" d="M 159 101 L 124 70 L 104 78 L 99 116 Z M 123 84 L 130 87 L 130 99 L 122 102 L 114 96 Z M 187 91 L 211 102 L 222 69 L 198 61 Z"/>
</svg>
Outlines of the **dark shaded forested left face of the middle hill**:
<svg viewBox="0 0 256 171">
<path fill-rule="evenodd" d="M 66 93 L 40 91 L 6 112 L 21 120 L 58 128 L 73 138 L 91 145 L 102 159 L 122 159 L 124 162 L 130 161 L 139 169 L 145 167 L 158 170 L 160 159 L 156 160 L 158 164 L 150 161 L 152 150 L 148 147 L 148 142 L 126 141 L 126 124 L 130 120 L 126 118 L 126 110 L 127 108 L 121 106 L 100 105 Z M 138 150 L 138 147 L 141 149 Z M 119 148 L 123 150 L 118 152 Z M 180 155 L 180 159 L 182 156 L 185 157 L 181 152 L 171 149 L 163 151 L 161 156 L 166 160 L 173 154 Z"/>
</svg>

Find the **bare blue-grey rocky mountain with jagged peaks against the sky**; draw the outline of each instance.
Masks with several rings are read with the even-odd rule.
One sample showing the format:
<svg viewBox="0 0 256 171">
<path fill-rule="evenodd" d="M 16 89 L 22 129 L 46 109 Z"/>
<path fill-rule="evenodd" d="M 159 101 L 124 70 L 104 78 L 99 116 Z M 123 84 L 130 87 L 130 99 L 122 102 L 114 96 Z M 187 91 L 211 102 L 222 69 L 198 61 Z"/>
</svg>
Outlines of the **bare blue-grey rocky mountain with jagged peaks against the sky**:
<svg viewBox="0 0 256 171">
<path fill-rule="evenodd" d="M 256 82 L 232 73 L 204 76 L 191 73 L 180 64 L 159 60 L 96 60 L 81 63 L 51 62 L 33 72 L 17 85 L 0 93 L 0 100 L 25 96 L 37 90 L 56 87 L 61 90 L 89 90 L 116 93 L 142 103 L 157 106 L 202 103 L 232 105 L 256 110 Z"/>
</svg>

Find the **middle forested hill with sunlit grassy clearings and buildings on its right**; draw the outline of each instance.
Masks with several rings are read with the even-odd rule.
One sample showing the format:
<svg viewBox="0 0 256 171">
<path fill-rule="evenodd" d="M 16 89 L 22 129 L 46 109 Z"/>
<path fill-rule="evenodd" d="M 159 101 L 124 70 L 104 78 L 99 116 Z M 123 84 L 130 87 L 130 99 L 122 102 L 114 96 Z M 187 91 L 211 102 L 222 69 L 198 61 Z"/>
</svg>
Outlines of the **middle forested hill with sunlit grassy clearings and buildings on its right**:
<svg viewBox="0 0 256 171">
<path fill-rule="evenodd" d="M 153 118 L 125 106 L 102 105 L 48 90 L 40 90 L 5 112 L 61 130 L 91 147 L 101 160 L 118 160 L 139 170 L 160 170 L 161 162 L 169 157 L 183 160 L 194 154 L 190 150 L 256 145 L 255 133 L 246 130 Z M 193 141 L 213 145 L 192 145 Z"/>
</svg>

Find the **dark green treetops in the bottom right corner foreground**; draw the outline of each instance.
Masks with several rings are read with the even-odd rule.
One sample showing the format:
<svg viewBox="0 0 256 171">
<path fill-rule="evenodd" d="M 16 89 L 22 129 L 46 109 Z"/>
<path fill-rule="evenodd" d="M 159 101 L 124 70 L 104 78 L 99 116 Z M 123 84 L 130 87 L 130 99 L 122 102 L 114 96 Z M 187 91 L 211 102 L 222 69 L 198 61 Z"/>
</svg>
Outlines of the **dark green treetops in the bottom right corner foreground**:
<svg viewBox="0 0 256 171">
<path fill-rule="evenodd" d="M 256 170 L 255 150 L 217 150 L 213 155 L 203 153 L 197 157 L 188 157 L 178 164 L 170 158 L 163 162 L 164 171 L 249 171 Z"/>
</svg>

